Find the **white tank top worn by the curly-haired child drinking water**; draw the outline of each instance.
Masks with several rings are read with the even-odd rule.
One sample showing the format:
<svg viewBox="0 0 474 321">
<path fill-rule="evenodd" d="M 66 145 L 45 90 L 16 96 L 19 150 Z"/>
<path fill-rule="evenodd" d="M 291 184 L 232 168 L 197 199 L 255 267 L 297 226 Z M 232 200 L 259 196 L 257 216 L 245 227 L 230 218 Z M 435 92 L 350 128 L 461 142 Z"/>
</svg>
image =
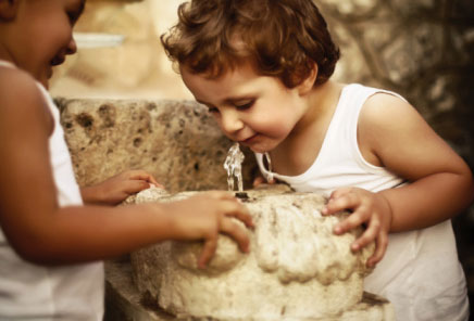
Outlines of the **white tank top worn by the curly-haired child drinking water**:
<svg viewBox="0 0 474 321">
<path fill-rule="evenodd" d="M 358 187 L 372 192 L 402 185 L 403 179 L 384 167 L 367 163 L 357 141 L 359 114 L 365 101 L 383 92 L 358 84 L 342 89 L 320 154 L 310 168 L 298 176 L 270 172 L 263 155 L 255 154 L 262 174 L 288 183 L 298 192 L 320 192 L 326 196 L 339 188 Z M 451 221 L 389 234 L 387 252 L 365 279 L 365 291 L 388 298 L 397 320 L 467 320 L 469 301 L 464 272 L 458 260 Z"/>
</svg>

